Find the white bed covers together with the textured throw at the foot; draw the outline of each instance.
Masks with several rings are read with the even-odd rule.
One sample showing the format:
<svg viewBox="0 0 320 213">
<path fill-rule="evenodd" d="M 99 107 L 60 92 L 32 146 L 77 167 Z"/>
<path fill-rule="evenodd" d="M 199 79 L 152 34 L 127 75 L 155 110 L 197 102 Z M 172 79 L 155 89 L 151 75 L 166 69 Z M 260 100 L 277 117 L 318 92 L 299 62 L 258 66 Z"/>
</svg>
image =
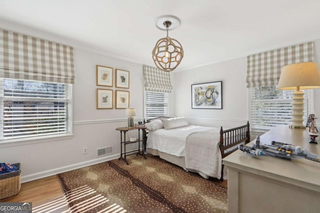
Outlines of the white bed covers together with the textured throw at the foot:
<svg viewBox="0 0 320 213">
<path fill-rule="evenodd" d="M 185 169 L 203 177 L 221 177 L 219 128 L 186 126 L 148 133 L 147 148 L 185 157 Z M 207 177 L 206 177 L 207 178 Z"/>
</svg>

